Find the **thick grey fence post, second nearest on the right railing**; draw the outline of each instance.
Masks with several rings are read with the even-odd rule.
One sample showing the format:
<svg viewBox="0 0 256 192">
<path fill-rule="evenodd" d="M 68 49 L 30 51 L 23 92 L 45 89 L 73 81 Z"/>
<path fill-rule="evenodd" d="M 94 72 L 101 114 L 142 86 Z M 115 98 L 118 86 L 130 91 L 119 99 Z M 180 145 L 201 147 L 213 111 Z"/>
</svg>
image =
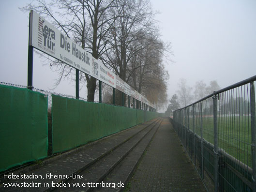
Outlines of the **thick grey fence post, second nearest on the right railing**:
<svg viewBox="0 0 256 192">
<path fill-rule="evenodd" d="M 218 119 L 217 119 L 217 95 L 213 97 L 213 127 L 214 127 L 214 192 L 219 188 L 219 154 L 218 154 Z"/>
</svg>

